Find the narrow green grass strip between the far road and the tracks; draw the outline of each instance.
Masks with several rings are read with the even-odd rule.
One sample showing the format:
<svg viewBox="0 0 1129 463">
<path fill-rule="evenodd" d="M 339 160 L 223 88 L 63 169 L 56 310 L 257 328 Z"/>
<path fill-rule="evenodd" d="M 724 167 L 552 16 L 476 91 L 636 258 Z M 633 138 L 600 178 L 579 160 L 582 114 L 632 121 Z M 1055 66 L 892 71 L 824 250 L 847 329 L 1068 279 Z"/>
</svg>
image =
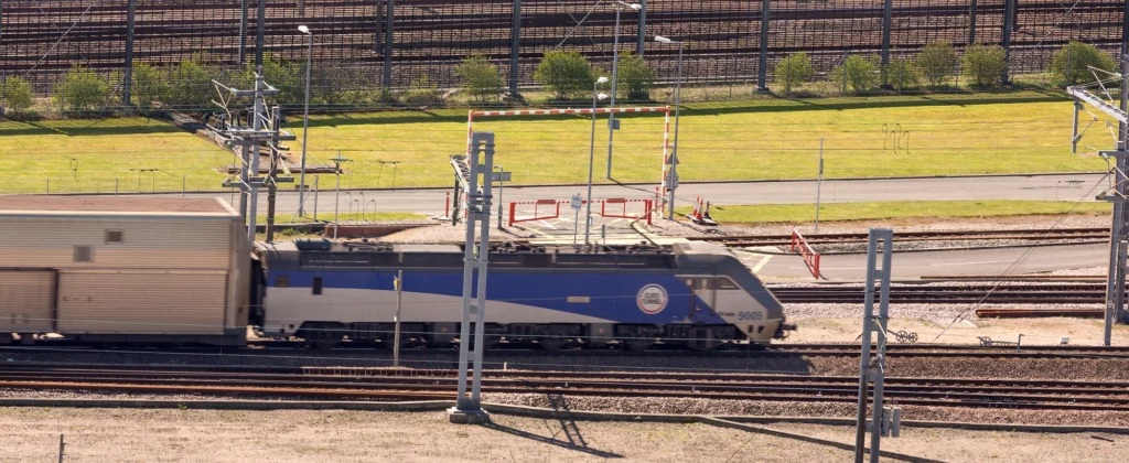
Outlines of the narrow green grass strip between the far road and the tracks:
<svg viewBox="0 0 1129 463">
<path fill-rule="evenodd" d="M 875 220 L 909 217 L 998 217 L 1061 213 L 1110 213 L 1106 202 L 1068 201 L 876 201 L 820 206 L 820 221 Z M 690 208 L 677 208 L 689 213 Z M 714 206 L 710 216 L 721 224 L 809 222 L 815 204 Z"/>
</svg>

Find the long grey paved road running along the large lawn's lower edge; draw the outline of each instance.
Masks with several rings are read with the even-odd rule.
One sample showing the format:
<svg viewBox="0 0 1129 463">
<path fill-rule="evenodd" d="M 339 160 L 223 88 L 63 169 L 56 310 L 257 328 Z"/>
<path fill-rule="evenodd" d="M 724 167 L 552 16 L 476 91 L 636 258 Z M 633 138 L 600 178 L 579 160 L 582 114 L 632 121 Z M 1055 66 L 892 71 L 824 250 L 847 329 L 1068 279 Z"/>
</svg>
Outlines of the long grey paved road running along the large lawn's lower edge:
<svg viewBox="0 0 1129 463">
<path fill-rule="evenodd" d="M 917 180 L 830 180 L 823 182 L 823 202 L 855 201 L 951 201 L 951 200 L 1093 200 L 1105 183 L 1093 190 L 1102 180 L 1101 174 L 990 176 Z M 1076 184 L 1076 181 L 1082 181 Z M 654 186 L 597 185 L 594 198 L 651 198 Z M 815 202 L 814 181 L 798 182 L 743 182 L 683 184 L 679 189 L 679 206 L 690 206 L 694 198 L 707 198 L 714 204 L 790 204 Z M 567 200 L 572 194 L 584 194 L 584 186 L 509 186 L 502 190 L 502 201 L 539 199 Z M 237 201 L 234 194 L 203 193 L 196 196 L 222 196 Z M 435 213 L 444 210 L 445 190 L 342 191 L 341 211 L 410 211 Z M 313 211 L 313 198 L 306 209 Z M 260 194 L 260 211 L 266 209 L 266 194 Z M 317 211 L 333 213 L 334 192 L 317 194 Z M 298 209 L 298 193 L 280 192 L 278 210 L 292 213 Z"/>
</svg>

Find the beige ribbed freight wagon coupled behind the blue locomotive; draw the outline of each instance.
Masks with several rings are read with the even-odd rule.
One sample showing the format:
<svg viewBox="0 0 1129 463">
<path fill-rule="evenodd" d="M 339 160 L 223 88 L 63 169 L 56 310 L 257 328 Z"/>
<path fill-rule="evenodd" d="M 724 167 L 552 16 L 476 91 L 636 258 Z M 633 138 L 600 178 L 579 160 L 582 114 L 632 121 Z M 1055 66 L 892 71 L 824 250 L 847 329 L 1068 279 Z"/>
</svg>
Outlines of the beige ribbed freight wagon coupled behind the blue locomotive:
<svg viewBox="0 0 1129 463">
<path fill-rule="evenodd" d="M 0 343 L 245 343 L 250 244 L 220 199 L 0 196 Z"/>
</svg>

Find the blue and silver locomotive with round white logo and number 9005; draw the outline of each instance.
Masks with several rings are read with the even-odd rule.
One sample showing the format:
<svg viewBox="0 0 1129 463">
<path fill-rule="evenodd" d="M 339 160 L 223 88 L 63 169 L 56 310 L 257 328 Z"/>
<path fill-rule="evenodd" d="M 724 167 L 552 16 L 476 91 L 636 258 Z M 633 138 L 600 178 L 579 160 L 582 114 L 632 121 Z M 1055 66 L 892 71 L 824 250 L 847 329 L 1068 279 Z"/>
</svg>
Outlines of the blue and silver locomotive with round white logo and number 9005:
<svg viewBox="0 0 1129 463">
<path fill-rule="evenodd" d="M 322 344 L 392 341 L 395 279 L 403 271 L 404 342 L 455 341 L 462 320 L 463 247 L 385 243 L 256 244 L 264 335 Z M 780 302 L 728 250 L 673 246 L 491 247 L 485 341 L 545 349 L 657 342 L 714 349 L 768 344 L 784 334 Z"/>
</svg>

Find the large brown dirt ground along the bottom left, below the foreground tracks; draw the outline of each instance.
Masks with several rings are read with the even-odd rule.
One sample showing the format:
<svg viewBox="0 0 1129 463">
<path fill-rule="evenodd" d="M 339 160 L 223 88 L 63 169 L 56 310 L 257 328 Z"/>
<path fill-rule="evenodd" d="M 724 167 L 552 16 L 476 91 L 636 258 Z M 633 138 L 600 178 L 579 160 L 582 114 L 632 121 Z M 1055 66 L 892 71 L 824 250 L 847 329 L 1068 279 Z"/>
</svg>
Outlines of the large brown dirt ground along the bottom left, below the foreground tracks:
<svg viewBox="0 0 1129 463">
<path fill-rule="evenodd" d="M 0 409 L 0 461 L 837 462 L 848 452 L 709 425 L 559 421 L 443 412 Z"/>
</svg>

